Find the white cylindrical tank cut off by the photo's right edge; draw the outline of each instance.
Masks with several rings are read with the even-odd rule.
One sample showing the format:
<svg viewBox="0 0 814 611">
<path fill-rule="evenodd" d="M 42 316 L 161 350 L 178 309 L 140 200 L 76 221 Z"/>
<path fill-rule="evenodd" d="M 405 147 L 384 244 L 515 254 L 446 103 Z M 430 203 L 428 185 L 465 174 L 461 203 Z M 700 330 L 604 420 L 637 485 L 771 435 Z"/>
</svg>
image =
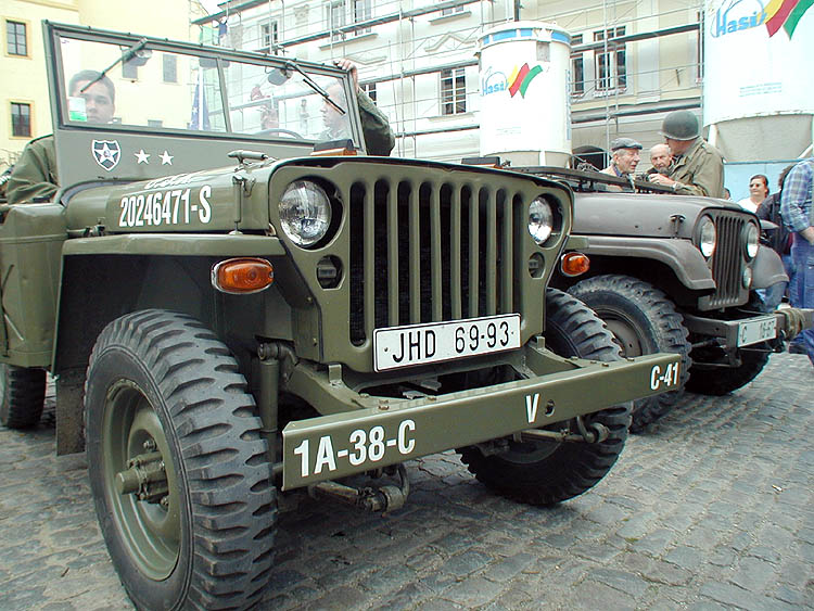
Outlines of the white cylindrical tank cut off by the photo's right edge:
<svg viewBox="0 0 814 611">
<path fill-rule="evenodd" d="M 703 123 L 730 161 L 788 160 L 812 144 L 814 7 L 705 0 Z"/>
</svg>

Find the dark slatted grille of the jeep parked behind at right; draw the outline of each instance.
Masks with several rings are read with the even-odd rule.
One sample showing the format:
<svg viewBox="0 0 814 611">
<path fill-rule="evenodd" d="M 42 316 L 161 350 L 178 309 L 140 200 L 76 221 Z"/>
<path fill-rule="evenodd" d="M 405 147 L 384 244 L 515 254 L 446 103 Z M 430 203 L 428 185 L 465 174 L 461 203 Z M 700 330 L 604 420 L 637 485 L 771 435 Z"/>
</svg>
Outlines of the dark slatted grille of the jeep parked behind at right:
<svg viewBox="0 0 814 611">
<path fill-rule="evenodd" d="M 745 301 L 746 290 L 741 284 L 743 271 L 745 215 L 726 211 L 709 211 L 715 222 L 717 245 L 712 255 L 712 277 L 715 292 L 702 300 L 707 309 L 739 305 Z"/>
</svg>

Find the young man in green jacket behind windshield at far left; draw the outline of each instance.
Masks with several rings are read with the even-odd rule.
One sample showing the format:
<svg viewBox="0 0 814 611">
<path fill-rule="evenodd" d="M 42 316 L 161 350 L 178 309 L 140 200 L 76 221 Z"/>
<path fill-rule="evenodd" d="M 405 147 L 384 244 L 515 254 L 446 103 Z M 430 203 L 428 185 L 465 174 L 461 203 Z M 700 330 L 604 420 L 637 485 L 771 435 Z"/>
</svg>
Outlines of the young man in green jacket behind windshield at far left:
<svg viewBox="0 0 814 611">
<path fill-rule="evenodd" d="M 110 123 L 116 112 L 113 81 L 96 71 L 76 73 L 68 82 L 68 96 L 84 100 L 85 110 L 79 109 L 79 120 Z M 49 199 L 59 184 L 53 136 L 36 138 L 26 144 L 14 164 L 7 187 L 9 203 L 30 203 L 35 198 Z"/>
</svg>

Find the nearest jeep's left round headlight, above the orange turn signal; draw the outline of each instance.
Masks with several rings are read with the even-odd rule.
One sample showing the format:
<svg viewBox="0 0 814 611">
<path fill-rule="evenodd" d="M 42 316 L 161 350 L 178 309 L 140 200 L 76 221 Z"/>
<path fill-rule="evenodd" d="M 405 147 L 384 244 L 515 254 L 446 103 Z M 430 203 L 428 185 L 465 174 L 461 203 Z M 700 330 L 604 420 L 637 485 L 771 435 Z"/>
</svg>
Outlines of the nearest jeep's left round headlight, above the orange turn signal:
<svg viewBox="0 0 814 611">
<path fill-rule="evenodd" d="M 280 200 L 280 225 L 297 246 L 313 246 L 331 225 L 331 202 L 319 184 L 295 180 Z"/>
</svg>

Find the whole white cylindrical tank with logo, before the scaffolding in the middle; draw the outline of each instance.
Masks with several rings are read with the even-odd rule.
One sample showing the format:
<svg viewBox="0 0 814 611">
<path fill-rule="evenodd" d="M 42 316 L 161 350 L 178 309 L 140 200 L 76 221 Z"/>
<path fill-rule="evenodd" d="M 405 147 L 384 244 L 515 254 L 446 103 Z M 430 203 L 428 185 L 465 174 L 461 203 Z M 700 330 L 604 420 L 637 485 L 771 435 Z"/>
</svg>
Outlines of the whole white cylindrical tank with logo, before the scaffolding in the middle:
<svg viewBox="0 0 814 611">
<path fill-rule="evenodd" d="M 513 166 L 571 157 L 571 37 L 552 24 L 510 22 L 479 39 L 481 155 Z"/>
</svg>

